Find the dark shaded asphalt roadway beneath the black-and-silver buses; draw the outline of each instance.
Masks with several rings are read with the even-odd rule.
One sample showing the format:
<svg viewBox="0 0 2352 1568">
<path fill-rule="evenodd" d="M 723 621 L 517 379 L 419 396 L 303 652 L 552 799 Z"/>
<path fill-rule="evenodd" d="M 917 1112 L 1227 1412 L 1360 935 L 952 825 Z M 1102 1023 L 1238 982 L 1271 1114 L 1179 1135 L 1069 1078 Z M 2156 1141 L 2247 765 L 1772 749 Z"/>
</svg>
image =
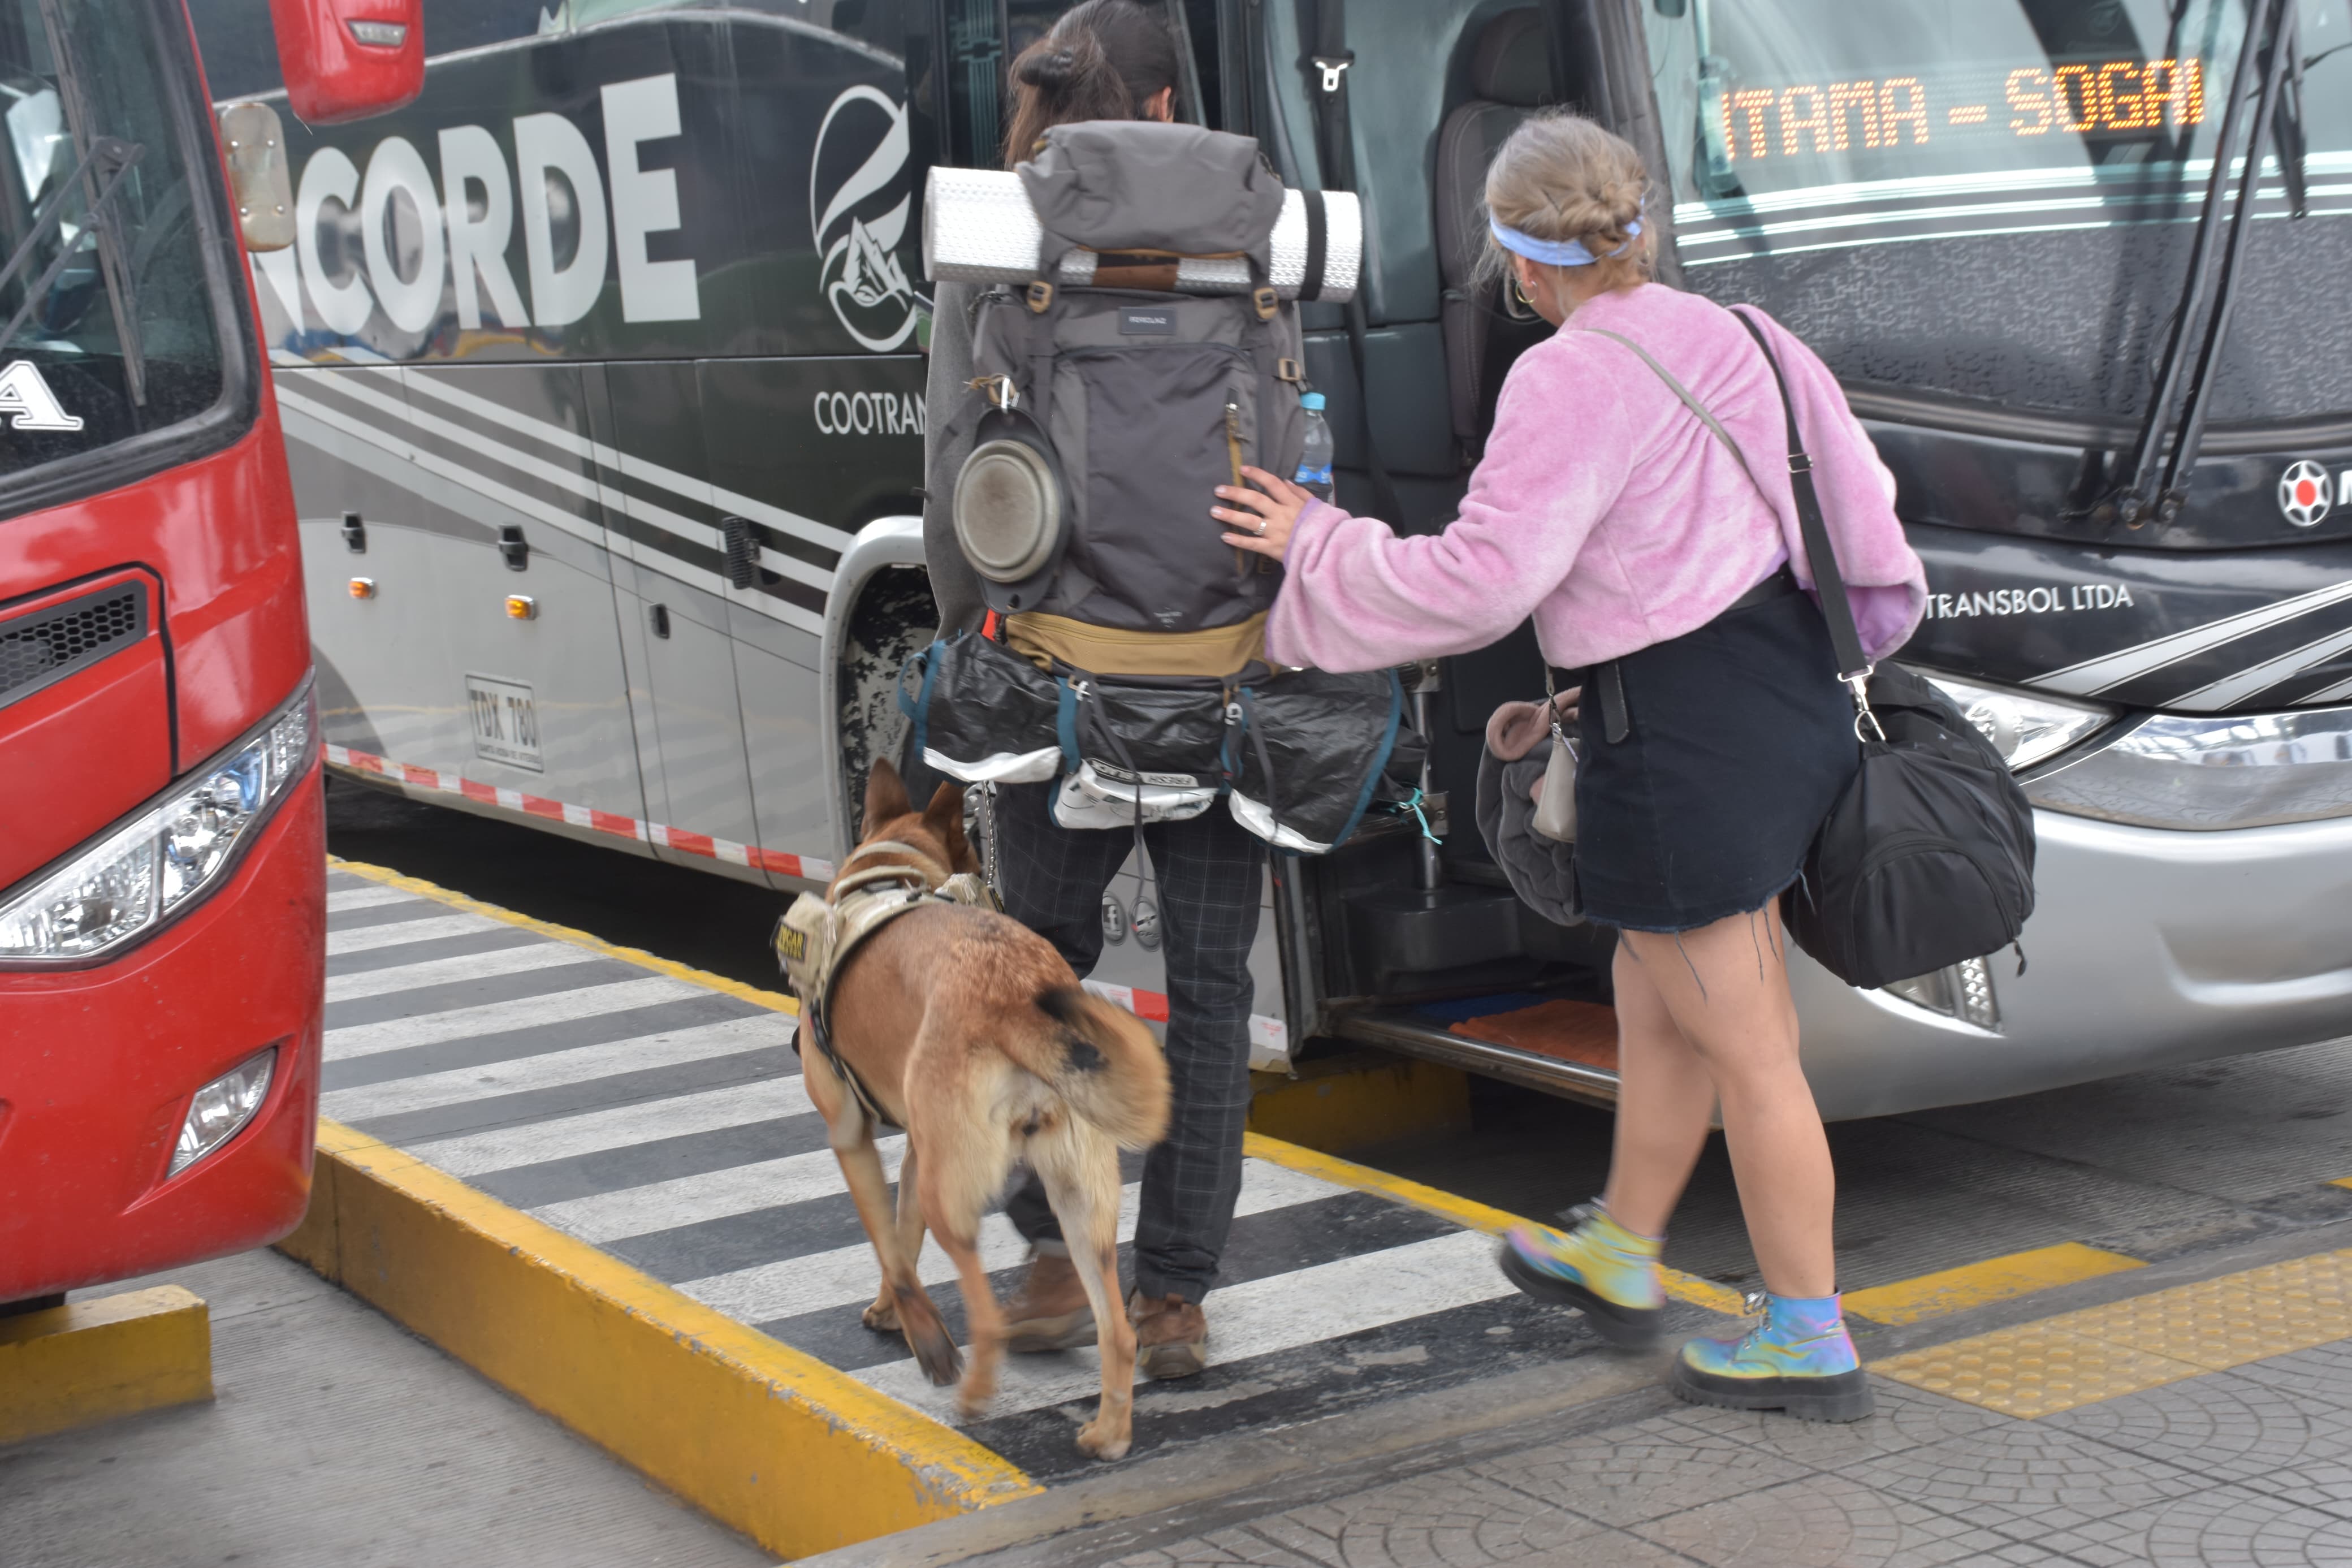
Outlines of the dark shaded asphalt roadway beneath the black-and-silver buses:
<svg viewBox="0 0 2352 1568">
<path fill-rule="evenodd" d="M 539 919 L 776 985 L 783 896 L 522 825 L 334 783 L 329 849 Z M 1355 1159 L 1522 1215 L 1599 1192 L 1611 1117 L 1472 1081 L 1472 1128 Z M 2352 1041 L 2216 1058 L 2053 1093 L 1830 1128 L 1839 1286 L 1910 1281 L 2082 1244 L 2145 1262 L 2352 1218 Z M 1755 1284 L 1722 1140 L 1675 1218 L 1668 1262 Z"/>
</svg>

